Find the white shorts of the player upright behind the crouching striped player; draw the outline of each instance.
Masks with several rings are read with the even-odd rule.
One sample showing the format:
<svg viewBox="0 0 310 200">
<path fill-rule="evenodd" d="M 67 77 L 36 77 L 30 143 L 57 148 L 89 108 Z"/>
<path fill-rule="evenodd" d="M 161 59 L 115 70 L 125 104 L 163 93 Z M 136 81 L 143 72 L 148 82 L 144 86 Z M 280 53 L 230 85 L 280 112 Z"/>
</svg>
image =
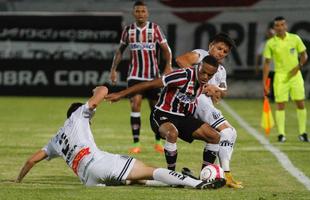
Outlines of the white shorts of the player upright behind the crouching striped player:
<svg viewBox="0 0 310 200">
<path fill-rule="evenodd" d="M 197 101 L 197 107 L 194 113 L 195 118 L 208 123 L 214 129 L 226 121 L 221 111 L 214 107 L 210 97 L 201 94 Z"/>
</svg>

